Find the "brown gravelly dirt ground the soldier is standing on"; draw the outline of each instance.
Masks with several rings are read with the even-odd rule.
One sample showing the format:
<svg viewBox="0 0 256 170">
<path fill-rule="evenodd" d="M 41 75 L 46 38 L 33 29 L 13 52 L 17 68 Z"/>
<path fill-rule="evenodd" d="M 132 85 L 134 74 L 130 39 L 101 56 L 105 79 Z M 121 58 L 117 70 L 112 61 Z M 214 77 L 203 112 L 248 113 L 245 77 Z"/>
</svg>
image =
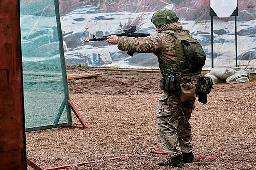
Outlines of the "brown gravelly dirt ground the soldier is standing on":
<svg viewBox="0 0 256 170">
<path fill-rule="evenodd" d="M 72 166 L 65 170 L 176 170 L 158 167 L 165 155 L 156 122 L 160 73 L 87 70 L 70 66 L 68 73 L 101 73 L 70 80 L 70 98 L 89 129 L 59 128 L 27 133 L 27 157 L 42 168 L 133 157 Z M 73 117 L 73 122 L 79 121 Z M 197 159 L 180 170 L 256 170 L 256 81 L 214 85 L 206 105 L 196 102 L 190 120 Z M 31 170 L 31 168 L 29 168 Z"/>
</svg>

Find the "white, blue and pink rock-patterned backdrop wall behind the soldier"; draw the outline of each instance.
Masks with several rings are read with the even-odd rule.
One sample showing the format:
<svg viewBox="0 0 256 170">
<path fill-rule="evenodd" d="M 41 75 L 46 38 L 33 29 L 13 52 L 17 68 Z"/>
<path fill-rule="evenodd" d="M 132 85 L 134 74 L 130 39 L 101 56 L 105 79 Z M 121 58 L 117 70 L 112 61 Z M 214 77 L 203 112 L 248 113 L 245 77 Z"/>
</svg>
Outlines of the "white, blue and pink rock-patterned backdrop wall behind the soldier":
<svg viewBox="0 0 256 170">
<path fill-rule="evenodd" d="M 118 34 L 125 26 L 135 24 L 138 32 L 155 34 L 151 17 L 158 9 L 174 10 L 184 28 L 202 44 L 207 53 L 204 69 L 211 68 L 211 21 L 209 0 L 59 0 L 61 6 L 63 40 L 66 61 L 69 64 L 110 66 L 121 68 L 158 68 L 153 54 L 135 54 L 130 57 L 116 46 L 103 41 L 83 43 L 93 34 Z M 256 3 L 239 1 L 237 17 L 238 65 L 256 68 Z M 229 19 L 214 17 L 215 66 L 234 67 L 234 16 Z"/>
</svg>

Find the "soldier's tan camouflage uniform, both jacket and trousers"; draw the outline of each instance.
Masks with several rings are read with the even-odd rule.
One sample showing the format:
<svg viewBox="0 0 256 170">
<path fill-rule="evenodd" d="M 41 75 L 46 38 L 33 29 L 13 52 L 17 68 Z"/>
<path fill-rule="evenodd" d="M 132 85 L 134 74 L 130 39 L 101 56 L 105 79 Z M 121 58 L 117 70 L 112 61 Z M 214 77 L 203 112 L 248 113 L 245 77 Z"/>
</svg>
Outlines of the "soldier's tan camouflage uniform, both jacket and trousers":
<svg viewBox="0 0 256 170">
<path fill-rule="evenodd" d="M 188 30 L 182 28 L 181 23 L 174 22 L 163 25 L 158 34 L 145 38 L 119 37 L 118 48 L 122 51 L 154 53 L 159 64 L 177 63 L 176 33 L 179 36 L 189 35 Z M 189 35 L 190 36 L 190 35 Z M 186 76 L 189 77 L 189 76 Z M 198 85 L 198 78 L 192 79 Z M 176 93 L 164 92 L 158 101 L 158 130 L 164 148 L 170 157 L 177 157 L 192 151 L 191 126 L 189 119 L 194 110 L 195 101 L 181 102 L 180 91 Z"/>
</svg>

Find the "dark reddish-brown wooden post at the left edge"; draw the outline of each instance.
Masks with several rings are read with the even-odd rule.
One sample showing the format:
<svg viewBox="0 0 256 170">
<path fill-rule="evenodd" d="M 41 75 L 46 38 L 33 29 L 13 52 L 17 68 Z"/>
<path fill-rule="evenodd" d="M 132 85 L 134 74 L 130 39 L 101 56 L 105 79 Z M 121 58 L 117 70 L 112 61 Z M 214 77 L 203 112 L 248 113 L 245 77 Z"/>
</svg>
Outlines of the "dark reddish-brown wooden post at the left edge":
<svg viewBox="0 0 256 170">
<path fill-rule="evenodd" d="M 19 0 L 0 0 L 0 169 L 26 170 Z"/>
</svg>

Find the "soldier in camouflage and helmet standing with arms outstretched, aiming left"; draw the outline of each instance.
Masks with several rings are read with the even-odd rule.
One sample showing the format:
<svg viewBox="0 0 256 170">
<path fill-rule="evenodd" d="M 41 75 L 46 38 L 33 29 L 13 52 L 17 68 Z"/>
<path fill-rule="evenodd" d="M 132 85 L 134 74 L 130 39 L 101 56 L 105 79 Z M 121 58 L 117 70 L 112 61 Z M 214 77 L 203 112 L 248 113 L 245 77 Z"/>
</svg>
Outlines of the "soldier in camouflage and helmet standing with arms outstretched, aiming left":
<svg viewBox="0 0 256 170">
<path fill-rule="evenodd" d="M 159 10 L 151 18 L 158 34 L 144 38 L 111 35 L 107 39 L 108 43 L 117 44 L 119 50 L 154 53 L 158 57 L 163 76 L 161 89 L 164 91 L 158 101 L 158 130 L 169 155 L 166 162 L 157 164 L 159 166 L 183 167 L 184 162 L 194 161 L 189 119 L 194 110 L 198 79 L 206 56 L 203 56 L 199 42 L 191 37 L 188 30 L 183 29 L 178 20 L 173 11 Z M 186 56 L 187 53 L 194 56 L 195 49 L 189 47 L 199 49 L 196 51 L 204 61 L 198 64 L 198 58 Z"/>
</svg>

